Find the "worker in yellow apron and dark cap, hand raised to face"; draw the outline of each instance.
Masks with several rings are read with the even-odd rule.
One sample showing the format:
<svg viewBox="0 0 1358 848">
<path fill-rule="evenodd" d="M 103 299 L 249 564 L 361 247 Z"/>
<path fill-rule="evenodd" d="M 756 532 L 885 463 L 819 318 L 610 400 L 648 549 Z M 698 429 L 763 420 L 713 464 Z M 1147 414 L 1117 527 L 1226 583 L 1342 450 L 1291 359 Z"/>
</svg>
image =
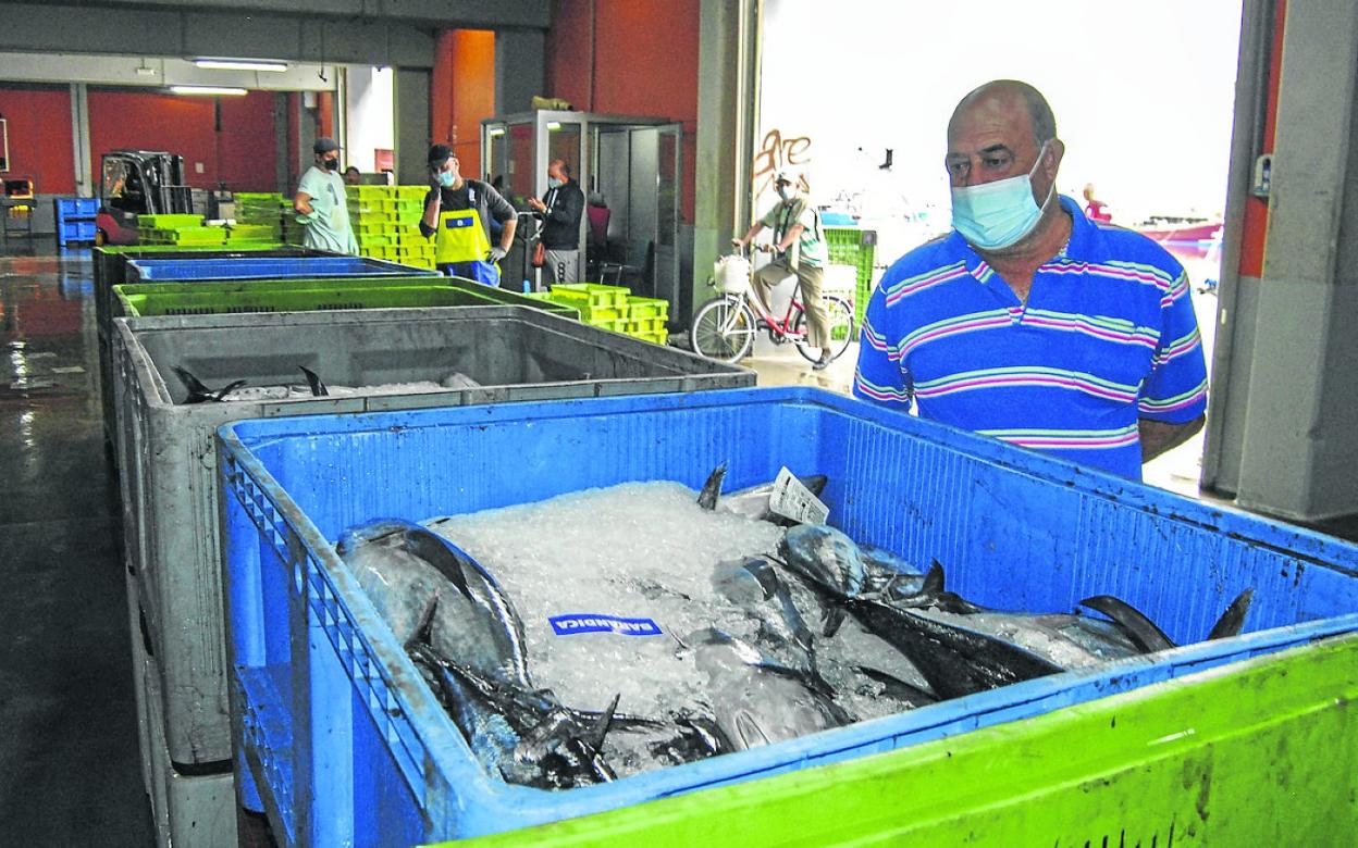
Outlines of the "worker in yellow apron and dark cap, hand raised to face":
<svg viewBox="0 0 1358 848">
<path fill-rule="evenodd" d="M 498 242 L 490 240 L 490 221 L 500 223 Z M 451 277 L 500 285 L 500 266 L 517 228 L 513 206 L 479 179 L 463 176 L 447 144 L 429 148 L 429 194 L 420 232 L 433 236 L 435 262 Z"/>
</svg>

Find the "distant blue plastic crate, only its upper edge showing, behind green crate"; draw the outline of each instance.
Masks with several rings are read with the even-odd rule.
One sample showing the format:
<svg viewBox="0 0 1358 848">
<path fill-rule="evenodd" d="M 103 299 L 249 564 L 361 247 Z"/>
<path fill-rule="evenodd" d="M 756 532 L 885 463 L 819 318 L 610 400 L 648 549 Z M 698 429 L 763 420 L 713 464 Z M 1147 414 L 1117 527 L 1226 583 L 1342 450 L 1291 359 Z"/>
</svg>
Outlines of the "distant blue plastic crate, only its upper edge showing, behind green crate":
<svg viewBox="0 0 1358 848">
<path fill-rule="evenodd" d="M 429 269 L 368 256 L 250 256 L 232 259 L 133 259 L 126 282 L 282 280 L 287 277 L 428 277 Z"/>
</svg>

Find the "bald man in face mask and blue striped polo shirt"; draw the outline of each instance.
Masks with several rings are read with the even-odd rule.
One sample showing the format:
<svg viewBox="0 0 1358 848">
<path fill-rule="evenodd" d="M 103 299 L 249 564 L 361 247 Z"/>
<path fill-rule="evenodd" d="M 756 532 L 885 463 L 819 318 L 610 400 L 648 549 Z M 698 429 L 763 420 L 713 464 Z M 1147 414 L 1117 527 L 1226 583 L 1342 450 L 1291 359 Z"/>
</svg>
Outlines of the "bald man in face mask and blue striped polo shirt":
<svg viewBox="0 0 1358 848">
<path fill-rule="evenodd" d="M 1055 191 L 1042 94 L 998 80 L 948 122 L 953 231 L 868 303 L 854 393 L 1141 479 L 1203 423 L 1207 372 L 1183 267 Z"/>
</svg>

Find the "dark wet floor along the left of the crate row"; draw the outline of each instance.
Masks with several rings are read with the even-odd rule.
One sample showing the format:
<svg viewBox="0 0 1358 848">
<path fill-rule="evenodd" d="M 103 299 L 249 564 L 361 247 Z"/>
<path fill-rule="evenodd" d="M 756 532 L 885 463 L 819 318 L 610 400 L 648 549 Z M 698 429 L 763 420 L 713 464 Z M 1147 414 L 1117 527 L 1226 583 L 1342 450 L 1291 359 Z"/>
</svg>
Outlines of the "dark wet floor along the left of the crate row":
<svg viewBox="0 0 1358 848">
<path fill-rule="evenodd" d="M 0 256 L 0 833 L 10 844 L 153 844 L 96 355 L 90 251 Z"/>
</svg>

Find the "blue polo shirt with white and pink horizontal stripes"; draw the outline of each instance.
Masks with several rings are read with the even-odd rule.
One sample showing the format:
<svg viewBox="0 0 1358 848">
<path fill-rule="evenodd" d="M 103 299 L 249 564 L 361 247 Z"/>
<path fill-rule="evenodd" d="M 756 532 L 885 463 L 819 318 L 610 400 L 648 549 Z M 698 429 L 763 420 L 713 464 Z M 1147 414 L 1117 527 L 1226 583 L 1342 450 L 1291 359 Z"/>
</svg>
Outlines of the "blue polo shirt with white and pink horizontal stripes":
<svg viewBox="0 0 1358 848">
<path fill-rule="evenodd" d="M 1187 423 L 1207 369 L 1183 267 L 1073 218 L 1021 303 L 956 231 L 902 256 L 864 317 L 854 395 L 1141 479 L 1137 421 Z"/>
</svg>

